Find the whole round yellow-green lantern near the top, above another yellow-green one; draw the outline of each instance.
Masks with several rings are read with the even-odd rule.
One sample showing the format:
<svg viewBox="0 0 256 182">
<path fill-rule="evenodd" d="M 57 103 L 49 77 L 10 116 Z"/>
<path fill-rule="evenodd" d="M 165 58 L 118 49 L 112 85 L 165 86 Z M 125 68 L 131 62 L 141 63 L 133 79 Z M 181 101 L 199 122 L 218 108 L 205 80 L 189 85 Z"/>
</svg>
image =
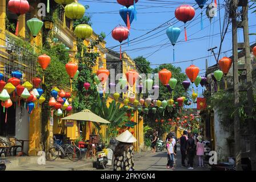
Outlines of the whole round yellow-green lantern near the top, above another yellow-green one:
<svg viewBox="0 0 256 182">
<path fill-rule="evenodd" d="M 78 2 L 73 2 L 65 6 L 65 15 L 70 19 L 80 19 L 83 18 L 85 14 L 85 6 Z"/>
</svg>

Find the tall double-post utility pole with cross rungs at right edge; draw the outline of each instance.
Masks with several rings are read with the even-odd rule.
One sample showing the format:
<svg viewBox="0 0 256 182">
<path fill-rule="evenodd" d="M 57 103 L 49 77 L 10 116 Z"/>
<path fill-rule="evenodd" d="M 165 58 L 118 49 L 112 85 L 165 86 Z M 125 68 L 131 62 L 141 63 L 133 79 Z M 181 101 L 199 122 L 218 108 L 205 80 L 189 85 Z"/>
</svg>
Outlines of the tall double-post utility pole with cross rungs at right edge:
<svg viewBox="0 0 256 182">
<path fill-rule="evenodd" d="M 239 92 L 246 92 L 247 96 L 247 115 L 251 115 L 253 108 L 253 88 L 251 82 L 251 58 L 250 58 L 250 43 L 249 43 L 249 27 L 248 27 L 248 0 L 230 1 L 230 15 L 232 18 L 232 34 L 233 34 L 233 79 L 234 79 L 234 106 L 236 108 L 234 113 L 234 140 L 235 140 L 235 159 L 237 170 L 242 170 L 241 158 L 242 158 L 242 145 L 241 145 L 241 123 L 238 114 L 239 104 Z M 242 12 L 238 17 L 237 9 L 241 7 Z M 239 9 L 240 10 L 240 9 Z M 243 30 L 244 42 L 238 43 L 237 32 L 238 28 Z M 245 63 L 238 65 L 238 51 L 245 53 Z M 239 86 L 238 71 L 246 72 L 246 85 Z M 253 119 L 247 119 L 249 122 L 250 131 L 250 159 L 251 167 L 255 170 L 255 125 Z"/>
</svg>

